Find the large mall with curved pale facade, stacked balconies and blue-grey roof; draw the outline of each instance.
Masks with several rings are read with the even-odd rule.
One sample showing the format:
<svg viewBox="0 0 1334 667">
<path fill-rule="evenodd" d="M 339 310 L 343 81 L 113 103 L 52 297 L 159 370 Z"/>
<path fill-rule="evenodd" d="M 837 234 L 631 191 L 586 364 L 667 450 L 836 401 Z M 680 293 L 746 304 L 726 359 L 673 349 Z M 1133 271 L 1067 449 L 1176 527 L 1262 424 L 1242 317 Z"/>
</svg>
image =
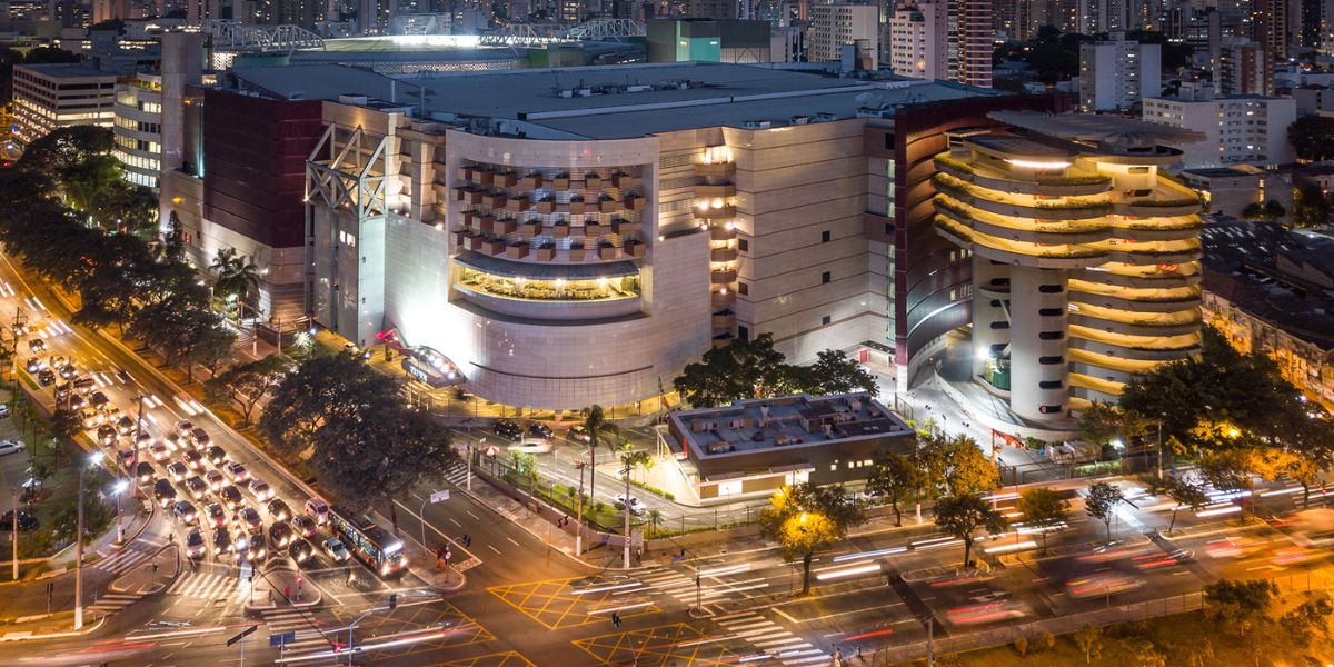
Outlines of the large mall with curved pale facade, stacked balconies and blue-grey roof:
<svg viewBox="0 0 1334 667">
<path fill-rule="evenodd" d="M 312 96 L 299 67 L 249 76 Z M 974 303 L 971 252 L 935 227 L 946 131 L 1059 104 L 800 65 L 360 83 L 307 161 L 308 311 L 543 410 L 658 396 L 760 334 L 910 375 Z"/>
</svg>

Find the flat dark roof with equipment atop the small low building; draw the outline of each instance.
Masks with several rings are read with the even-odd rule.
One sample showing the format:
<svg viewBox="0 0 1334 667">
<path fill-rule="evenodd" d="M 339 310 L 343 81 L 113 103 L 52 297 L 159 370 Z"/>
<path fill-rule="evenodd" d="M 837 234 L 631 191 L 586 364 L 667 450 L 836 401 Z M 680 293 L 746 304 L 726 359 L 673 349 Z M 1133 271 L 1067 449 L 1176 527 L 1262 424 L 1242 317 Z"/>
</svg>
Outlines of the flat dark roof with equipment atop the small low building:
<svg viewBox="0 0 1334 667">
<path fill-rule="evenodd" d="M 671 420 L 696 459 L 911 434 L 902 419 L 864 392 L 740 400 L 674 412 Z"/>
</svg>

